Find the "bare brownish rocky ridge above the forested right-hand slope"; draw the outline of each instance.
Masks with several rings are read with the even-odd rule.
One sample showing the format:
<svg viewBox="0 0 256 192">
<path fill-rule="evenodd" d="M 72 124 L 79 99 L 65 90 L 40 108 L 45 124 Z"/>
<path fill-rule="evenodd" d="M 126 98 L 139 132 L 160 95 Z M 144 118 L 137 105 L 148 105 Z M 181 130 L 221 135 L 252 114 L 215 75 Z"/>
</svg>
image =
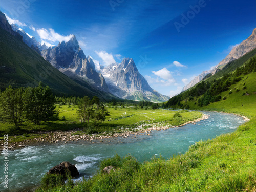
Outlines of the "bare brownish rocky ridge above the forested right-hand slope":
<svg viewBox="0 0 256 192">
<path fill-rule="evenodd" d="M 182 91 L 185 91 L 200 82 L 204 79 L 204 77 L 208 74 L 214 75 L 221 69 L 223 69 L 228 63 L 230 63 L 233 60 L 236 60 L 246 53 L 249 53 L 250 51 L 254 50 L 256 48 L 256 28 L 253 30 L 252 34 L 243 42 L 241 42 L 240 45 L 234 47 L 231 52 L 226 56 L 225 59 L 223 59 L 217 66 L 214 67 L 214 69 L 209 71 L 203 71 L 200 75 L 195 77 L 192 81 L 190 81 L 185 87 L 183 87 Z"/>
</svg>

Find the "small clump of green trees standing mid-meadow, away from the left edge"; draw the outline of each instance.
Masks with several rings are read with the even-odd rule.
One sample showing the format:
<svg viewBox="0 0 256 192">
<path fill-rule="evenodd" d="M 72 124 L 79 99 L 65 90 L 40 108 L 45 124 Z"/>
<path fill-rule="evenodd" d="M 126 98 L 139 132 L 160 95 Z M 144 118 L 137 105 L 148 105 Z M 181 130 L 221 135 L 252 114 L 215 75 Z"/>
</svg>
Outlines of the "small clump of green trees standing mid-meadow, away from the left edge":
<svg viewBox="0 0 256 192">
<path fill-rule="evenodd" d="M 90 99 L 88 96 L 81 98 L 77 104 L 77 114 L 82 122 L 89 123 L 90 119 L 103 122 L 106 115 L 109 115 L 105 104 L 100 102 L 99 98 L 94 96 Z"/>
</svg>

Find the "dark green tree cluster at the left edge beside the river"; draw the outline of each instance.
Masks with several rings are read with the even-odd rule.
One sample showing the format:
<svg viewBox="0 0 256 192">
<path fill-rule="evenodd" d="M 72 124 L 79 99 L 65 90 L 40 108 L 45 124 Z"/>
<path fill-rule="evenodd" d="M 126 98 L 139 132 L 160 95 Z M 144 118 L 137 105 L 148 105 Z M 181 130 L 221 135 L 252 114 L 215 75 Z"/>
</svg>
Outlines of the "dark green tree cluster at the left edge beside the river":
<svg viewBox="0 0 256 192">
<path fill-rule="evenodd" d="M 15 89 L 10 86 L 0 95 L 0 114 L 2 120 L 14 123 L 16 129 L 25 118 L 40 125 L 41 121 L 48 121 L 56 113 L 54 103 L 51 89 L 42 87 L 42 83 L 35 88 Z"/>
</svg>

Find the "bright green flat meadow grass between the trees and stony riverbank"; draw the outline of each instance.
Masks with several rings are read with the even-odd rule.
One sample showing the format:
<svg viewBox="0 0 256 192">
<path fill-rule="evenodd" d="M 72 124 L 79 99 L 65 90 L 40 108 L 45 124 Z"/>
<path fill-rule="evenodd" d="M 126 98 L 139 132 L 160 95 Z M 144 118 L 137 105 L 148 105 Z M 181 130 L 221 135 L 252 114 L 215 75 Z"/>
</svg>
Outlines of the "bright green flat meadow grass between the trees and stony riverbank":
<svg viewBox="0 0 256 192">
<path fill-rule="evenodd" d="M 116 110 L 115 110 L 116 109 Z M 55 121 L 42 122 L 41 125 L 34 125 L 32 122 L 23 122 L 23 125 L 19 130 L 15 129 L 14 124 L 1 123 L 0 122 L 0 140 L 4 139 L 4 134 L 9 135 L 9 142 L 21 142 L 24 140 L 32 141 L 34 138 L 44 137 L 41 132 L 46 131 L 68 131 L 74 129 L 80 129 L 75 134 L 93 134 L 98 133 L 104 135 L 107 133 L 122 133 L 126 130 L 136 131 L 137 127 L 140 129 L 146 129 L 151 126 L 177 126 L 187 121 L 198 119 L 202 116 L 200 112 L 188 112 L 180 111 L 181 118 L 173 118 L 175 111 L 163 110 L 163 109 L 137 109 L 131 107 L 118 107 L 108 108 L 110 116 L 106 116 L 106 120 L 102 124 L 94 125 L 90 122 L 90 126 L 87 123 L 81 123 L 77 117 L 77 106 L 74 105 L 56 105 L 56 110 L 59 110 L 59 119 Z M 61 120 L 65 117 L 65 120 Z"/>
</svg>

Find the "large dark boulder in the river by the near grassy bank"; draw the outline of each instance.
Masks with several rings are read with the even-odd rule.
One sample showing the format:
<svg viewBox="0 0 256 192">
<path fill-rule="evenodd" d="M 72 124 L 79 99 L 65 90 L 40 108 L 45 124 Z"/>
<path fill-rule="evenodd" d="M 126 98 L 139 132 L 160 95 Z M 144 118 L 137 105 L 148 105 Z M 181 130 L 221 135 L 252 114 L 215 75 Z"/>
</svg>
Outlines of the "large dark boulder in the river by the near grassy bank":
<svg viewBox="0 0 256 192">
<path fill-rule="evenodd" d="M 62 162 L 59 165 L 52 167 L 48 174 L 60 174 L 66 176 L 66 172 L 69 171 L 71 177 L 78 177 L 79 172 L 75 165 L 70 164 L 69 162 Z"/>
</svg>

